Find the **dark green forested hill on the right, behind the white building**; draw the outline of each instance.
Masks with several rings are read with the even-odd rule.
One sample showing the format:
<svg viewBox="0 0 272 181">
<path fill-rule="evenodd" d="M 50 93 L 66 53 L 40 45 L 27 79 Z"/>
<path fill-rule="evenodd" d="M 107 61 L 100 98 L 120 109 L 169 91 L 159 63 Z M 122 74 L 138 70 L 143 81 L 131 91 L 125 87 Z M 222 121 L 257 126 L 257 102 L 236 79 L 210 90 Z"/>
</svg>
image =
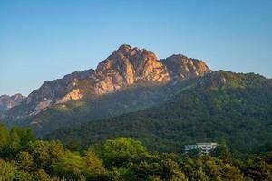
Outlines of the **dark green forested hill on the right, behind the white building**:
<svg viewBox="0 0 272 181">
<path fill-rule="evenodd" d="M 121 136 L 140 139 L 151 150 L 178 152 L 185 144 L 225 140 L 231 149 L 248 153 L 271 148 L 271 130 L 272 81 L 215 71 L 151 108 L 65 127 L 44 138 L 88 147 Z"/>
</svg>

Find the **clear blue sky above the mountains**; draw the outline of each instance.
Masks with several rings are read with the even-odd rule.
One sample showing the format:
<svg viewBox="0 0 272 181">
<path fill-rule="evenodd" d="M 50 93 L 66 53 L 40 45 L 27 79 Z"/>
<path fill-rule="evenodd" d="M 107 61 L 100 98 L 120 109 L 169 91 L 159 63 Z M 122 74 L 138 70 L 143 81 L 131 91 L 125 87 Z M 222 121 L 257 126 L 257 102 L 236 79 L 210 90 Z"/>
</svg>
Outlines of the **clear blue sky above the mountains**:
<svg viewBox="0 0 272 181">
<path fill-rule="evenodd" d="M 272 77 L 272 1 L 0 0 L 0 95 L 95 68 L 121 44 Z"/>
</svg>

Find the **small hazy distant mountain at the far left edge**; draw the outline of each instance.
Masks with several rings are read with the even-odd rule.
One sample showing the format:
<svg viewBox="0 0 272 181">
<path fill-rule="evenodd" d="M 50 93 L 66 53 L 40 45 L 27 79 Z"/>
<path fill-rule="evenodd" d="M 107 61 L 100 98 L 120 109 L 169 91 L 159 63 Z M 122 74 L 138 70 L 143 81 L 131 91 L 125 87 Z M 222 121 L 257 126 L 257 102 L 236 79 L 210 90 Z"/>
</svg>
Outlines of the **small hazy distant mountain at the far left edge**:
<svg viewBox="0 0 272 181">
<path fill-rule="evenodd" d="M 0 117 L 1 115 L 5 114 L 7 110 L 19 105 L 23 100 L 25 100 L 25 97 L 19 93 L 13 96 L 0 96 Z"/>
</svg>

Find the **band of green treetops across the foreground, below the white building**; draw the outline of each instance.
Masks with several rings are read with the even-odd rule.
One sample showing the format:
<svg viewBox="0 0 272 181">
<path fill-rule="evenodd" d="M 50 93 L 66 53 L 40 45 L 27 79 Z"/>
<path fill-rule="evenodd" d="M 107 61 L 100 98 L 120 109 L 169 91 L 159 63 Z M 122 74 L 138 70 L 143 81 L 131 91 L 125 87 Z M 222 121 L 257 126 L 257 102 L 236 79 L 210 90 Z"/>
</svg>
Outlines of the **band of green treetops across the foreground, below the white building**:
<svg viewBox="0 0 272 181">
<path fill-rule="evenodd" d="M 235 157 L 225 144 L 210 155 L 155 153 L 114 138 L 80 149 L 36 140 L 30 129 L 0 125 L 0 180 L 271 180 L 272 152 Z"/>
</svg>

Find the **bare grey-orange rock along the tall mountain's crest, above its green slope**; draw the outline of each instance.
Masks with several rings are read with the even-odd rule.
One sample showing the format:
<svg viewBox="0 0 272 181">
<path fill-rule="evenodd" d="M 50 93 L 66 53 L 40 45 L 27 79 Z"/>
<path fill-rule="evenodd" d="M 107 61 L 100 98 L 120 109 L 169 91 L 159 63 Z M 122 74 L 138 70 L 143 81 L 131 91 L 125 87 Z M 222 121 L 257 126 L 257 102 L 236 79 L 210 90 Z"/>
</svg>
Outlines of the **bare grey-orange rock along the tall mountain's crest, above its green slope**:
<svg viewBox="0 0 272 181">
<path fill-rule="evenodd" d="M 184 81 L 209 71 L 204 62 L 181 54 L 159 60 L 151 51 L 124 44 L 100 62 L 96 70 L 76 71 L 63 79 L 45 81 L 19 106 L 27 108 L 24 116 L 34 116 L 55 104 L 102 96 L 135 83 Z"/>
</svg>

